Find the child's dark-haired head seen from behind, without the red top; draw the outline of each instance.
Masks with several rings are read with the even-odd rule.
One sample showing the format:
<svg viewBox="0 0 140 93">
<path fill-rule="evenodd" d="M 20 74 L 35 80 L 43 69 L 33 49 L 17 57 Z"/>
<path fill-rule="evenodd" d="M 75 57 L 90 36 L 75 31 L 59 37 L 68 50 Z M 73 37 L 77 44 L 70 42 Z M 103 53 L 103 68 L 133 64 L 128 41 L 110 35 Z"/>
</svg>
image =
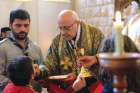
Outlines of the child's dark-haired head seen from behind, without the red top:
<svg viewBox="0 0 140 93">
<path fill-rule="evenodd" d="M 25 86 L 32 79 L 32 59 L 27 56 L 18 56 L 8 66 L 8 77 L 15 84 Z"/>
</svg>

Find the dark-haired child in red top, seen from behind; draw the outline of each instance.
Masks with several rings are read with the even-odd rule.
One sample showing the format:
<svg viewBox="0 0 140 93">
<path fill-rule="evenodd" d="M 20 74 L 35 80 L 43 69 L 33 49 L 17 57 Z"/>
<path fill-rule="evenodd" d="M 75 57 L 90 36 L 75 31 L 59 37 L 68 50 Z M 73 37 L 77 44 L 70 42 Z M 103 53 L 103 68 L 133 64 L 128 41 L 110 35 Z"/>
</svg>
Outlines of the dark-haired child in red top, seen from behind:
<svg viewBox="0 0 140 93">
<path fill-rule="evenodd" d="M 10 62 L 7 72 L 10 82 L 3 93 L 35 93 L 30 85 L 34 69 L 29 57 L 19 56 L 15 58 Z"/>
</svg>

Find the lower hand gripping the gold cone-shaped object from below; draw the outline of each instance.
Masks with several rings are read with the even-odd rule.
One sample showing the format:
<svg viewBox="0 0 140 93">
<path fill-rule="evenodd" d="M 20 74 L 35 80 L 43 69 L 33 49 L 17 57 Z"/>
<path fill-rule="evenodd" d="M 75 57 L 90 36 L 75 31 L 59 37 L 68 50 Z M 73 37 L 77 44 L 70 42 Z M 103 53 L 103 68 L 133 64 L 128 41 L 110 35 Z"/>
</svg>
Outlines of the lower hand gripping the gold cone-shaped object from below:
<svg viewBox="0 0 140 93">
<path fill-rule="evenodd" d="M 86 81 L 84 77 L 81 77 L 80 75 L 77 77 L 77 79 L 74 81 L 72 88 L 74 91 L 78 91 L 82 88 L 86 87 Z"/>
</svg>

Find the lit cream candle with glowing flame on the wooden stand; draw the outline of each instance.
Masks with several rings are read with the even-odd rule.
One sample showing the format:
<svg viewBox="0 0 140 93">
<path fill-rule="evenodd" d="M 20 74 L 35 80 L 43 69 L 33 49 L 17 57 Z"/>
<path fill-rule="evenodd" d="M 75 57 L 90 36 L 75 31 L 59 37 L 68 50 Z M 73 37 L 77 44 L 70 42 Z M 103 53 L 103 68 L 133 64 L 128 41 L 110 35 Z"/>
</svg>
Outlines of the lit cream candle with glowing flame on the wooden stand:
<svg viewBox="0 0 140 93">
<path fill-rule="evenodd" d="M 124 42 L 123 42 L 123 21 L 121 20 L 121 13 L 117 11 L 115 14 L 115 22 L 113 23 L 115 28 L 115 53 L 121 55 L 124 52 Z"/>
</svg>

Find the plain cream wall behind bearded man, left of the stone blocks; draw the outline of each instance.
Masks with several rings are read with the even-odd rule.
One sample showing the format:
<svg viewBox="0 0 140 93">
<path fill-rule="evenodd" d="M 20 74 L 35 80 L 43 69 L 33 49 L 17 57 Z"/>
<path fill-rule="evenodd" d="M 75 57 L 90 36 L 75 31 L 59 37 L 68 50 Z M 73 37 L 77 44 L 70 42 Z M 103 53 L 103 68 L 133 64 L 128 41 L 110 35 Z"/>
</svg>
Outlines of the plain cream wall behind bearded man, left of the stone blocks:
<svg viewBox="0 0 140 93">
<path fill-rule="evenodd" d="M 46 55 L 52 39 L 58 34 L 57 15 L 61 10 L 71 8 L 71 3 L 43 0 L 23 3 L 15 0 L 0 0 L 0 27 L 8 26 L 9 13 L 15 8 L 25 8 L 29 11 L 31 15 L 30 38 L 41 47 L 43 55 Z"/>
</svg>

